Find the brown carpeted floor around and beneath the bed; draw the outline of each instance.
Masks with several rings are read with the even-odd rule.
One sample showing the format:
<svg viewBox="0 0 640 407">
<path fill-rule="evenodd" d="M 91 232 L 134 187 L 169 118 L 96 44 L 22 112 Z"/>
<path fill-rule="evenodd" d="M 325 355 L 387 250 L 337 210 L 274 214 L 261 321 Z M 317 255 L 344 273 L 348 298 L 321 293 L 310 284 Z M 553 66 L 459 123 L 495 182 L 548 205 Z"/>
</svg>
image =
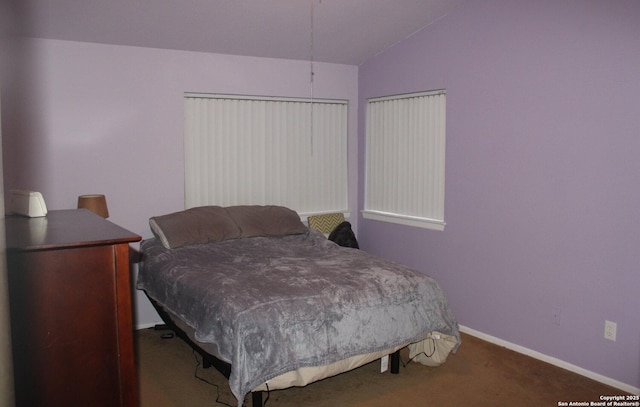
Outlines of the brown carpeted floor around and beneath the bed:
<svg viewBox="0 0 640 407">
<path fill-rule="evenodd" d="M 226 379 L 198 367 L 200 356 L 181 339 L 161 339 L 164 332 L 136 332 L 141 407 L 236 406 Z M 440 367 L 410 363 L 392 375 L 372 362 L 306 387 L 272 391 L 266 407 L 558 406 L 623 394 L 475 337 L 463 334 L 462 340 Z M 251 406 L 250 396 L 245 405 Z"/>
</svg>

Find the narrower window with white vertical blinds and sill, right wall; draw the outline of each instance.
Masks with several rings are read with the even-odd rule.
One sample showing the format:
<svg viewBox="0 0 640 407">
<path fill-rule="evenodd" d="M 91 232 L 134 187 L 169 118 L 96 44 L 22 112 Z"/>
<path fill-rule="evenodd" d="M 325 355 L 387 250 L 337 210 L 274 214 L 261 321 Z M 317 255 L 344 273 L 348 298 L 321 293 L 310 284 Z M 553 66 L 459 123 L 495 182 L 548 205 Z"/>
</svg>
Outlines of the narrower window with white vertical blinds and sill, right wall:
<svg viewBox="0 0 640 407">
<path fill-rule="evenodd" d="M 367 101 L 365 218 L 444 230 L 445 97 Z"/>
</svg>

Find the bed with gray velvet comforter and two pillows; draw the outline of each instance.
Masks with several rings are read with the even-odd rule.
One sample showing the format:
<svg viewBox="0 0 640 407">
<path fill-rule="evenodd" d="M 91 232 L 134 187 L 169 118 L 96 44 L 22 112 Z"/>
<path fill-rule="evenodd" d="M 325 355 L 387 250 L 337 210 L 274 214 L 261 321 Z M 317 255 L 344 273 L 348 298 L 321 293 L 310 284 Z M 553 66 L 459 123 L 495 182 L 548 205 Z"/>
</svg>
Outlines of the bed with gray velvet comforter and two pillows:
<svg viewBox="0 0 640 407">
<path fill-rule="evenodd" d="M 250 392 L 303 386 L 432 332 L 454 338 L 453 352 L 460 344 L 433 279 L 340 247 L 288 208 L 205 206 L 149 223 L 137 288 L 227 366 L 238 406 Z"/>
</svg>

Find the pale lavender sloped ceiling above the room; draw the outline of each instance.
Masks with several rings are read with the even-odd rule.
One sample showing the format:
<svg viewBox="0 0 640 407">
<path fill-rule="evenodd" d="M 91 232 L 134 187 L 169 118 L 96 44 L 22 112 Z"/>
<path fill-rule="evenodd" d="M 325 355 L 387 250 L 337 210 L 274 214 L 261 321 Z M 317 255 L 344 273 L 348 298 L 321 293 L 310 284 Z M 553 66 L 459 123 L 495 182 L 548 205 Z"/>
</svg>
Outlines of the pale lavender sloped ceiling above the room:
<svg viewBox="0 0 640 407">
<path fill-rule="evenodd" d="M 360 65 L 464 0 L 12 1 L 29 37 Z"/>
</svg>

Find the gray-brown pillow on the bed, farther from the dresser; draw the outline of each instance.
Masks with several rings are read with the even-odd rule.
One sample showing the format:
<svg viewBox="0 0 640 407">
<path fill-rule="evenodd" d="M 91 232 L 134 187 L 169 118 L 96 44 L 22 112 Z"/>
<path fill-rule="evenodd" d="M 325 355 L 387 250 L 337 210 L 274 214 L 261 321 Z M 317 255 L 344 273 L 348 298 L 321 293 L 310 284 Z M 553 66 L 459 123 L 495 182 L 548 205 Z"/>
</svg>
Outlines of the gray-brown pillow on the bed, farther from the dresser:
<svg viewBox="0 0 640 407">
<path fill-rule="evenodd" d="M 230 206 L 229 216 L 240 229 L 241 237 L 284 236 L 306 233 L 298 214 L 284 206 Z"/>
</svg>

